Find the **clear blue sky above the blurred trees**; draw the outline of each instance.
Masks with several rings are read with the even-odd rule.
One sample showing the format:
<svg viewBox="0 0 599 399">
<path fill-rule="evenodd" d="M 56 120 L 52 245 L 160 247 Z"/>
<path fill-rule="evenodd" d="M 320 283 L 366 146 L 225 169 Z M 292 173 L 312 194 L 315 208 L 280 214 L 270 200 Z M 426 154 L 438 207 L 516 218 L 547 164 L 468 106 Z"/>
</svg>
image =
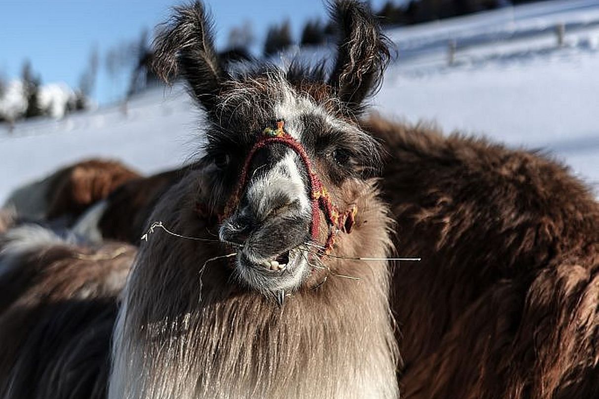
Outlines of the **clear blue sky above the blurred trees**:
<svg viewBox="0 0 599 399">
<path fill-rule="evenodd" d="M 217 28 L 217 45 L 244 20 L 252 23 L 262 41 L 270 23 L 291 20 L 295 37 L 308 18 L 325 17 L 323 0 L 207 0 Z M 384 0 L 372 0 L 380 7 Z M 16 78 L 29 59 L 43 83 L 78 84 L 92 46 L 100 55 L 99 77 L 92 95 L 101 103 L 117 98 L 120 90 L 107 77 L 104 55 L 123 40 L 135 40 L 144 28 L 152 31 L 169 15 L 177 0 L 2 0 L 0 5 L 0 74 Z"/>
</svg>

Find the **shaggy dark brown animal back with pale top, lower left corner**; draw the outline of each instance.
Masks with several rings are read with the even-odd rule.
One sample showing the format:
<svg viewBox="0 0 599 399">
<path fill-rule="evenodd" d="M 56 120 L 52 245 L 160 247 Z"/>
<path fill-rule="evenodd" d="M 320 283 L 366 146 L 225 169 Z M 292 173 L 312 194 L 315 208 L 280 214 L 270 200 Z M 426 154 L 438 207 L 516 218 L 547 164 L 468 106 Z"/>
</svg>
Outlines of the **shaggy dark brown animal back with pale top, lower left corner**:
<svg viewBox="0 0 599 399">
<path fill-rule="evenodd" d="M 31 250 L 37 235 L 47 240 Z M 135 249 L 60 244 L 38 226 L 0 244 L 0 397 L 105 398 L 116 297 Z"/>
</svg>

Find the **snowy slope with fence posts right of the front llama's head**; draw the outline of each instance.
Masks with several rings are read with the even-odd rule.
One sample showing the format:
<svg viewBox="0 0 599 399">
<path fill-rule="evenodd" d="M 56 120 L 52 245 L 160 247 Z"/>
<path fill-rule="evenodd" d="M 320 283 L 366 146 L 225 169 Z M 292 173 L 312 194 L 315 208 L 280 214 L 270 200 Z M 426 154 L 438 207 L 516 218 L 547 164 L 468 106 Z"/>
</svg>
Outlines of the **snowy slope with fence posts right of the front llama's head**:
<svg viewBox="0 0 599 399">
<path fill-rule="evenodd" d="M 599 194 L 598 1 L 541 2 L 388 35 L 400 58 L 374 100 L 381 113 L 542 149 Z"/>
</svg>

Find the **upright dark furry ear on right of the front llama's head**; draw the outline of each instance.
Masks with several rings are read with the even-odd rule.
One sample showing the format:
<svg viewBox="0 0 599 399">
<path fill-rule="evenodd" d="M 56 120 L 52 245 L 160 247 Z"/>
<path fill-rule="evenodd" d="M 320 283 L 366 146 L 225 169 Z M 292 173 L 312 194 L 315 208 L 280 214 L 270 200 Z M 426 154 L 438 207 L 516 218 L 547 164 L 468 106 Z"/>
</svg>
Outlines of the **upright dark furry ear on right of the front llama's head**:
<svg viewBox="0 0 599 399">
<path fill-rule="evenodd" d="M 350 109 L 359 110 L 362 101 L 382 83 L 390 59 L 389 40 L 374 16 L 358 1 L 336 1 L 332 17 L 340 38 L 329 84 Z"/>
</svg>

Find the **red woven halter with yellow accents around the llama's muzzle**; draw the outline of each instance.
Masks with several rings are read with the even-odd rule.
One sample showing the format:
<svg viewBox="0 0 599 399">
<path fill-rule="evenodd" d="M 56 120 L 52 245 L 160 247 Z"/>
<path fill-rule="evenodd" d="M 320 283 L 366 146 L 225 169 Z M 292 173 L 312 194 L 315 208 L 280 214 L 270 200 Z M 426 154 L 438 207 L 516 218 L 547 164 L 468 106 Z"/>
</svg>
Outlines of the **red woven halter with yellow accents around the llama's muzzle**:
<svg viewBox="0 0 599 399">
<path fill-rule="evenodd" d="M 268 127 L 264 129 L 262 135 L 258 137 L 258 140 L 247 154 L 246 161 L 243 165 L 243 169 L 241 170 L 240 182 L 234 194 L 226 204 L 225 211 L 223 213 L 223 219 L 224 217 L 229 216 L 239 204 L 240 196 L 243 193 L 247 183 L 247 172 L 250 167 L 250 162 L 252 162 L 252 158 L 256 151 L 270 144 L 284 144 L 299 155 L 299 158 L 303 162 L 308 173 L 308 178 L 310 180 L 310 202 L 312 208 L 310 236 L 313 241 L 318 239 L 320 223 L 319 209 L 322 209 L 325 219 L 328 222 L 329 234 L 326 238 L 324 249 L 321 251 L 323 254 L 328 253 L 333 246 L 335 234 L 337 234 L 338 231 L 341 230 L 348 234 L 352 232 L 358 207 L 356 207 L 356 205 L 350 205 L 350 207 L 347 208 L 347 210 L 343 213 L 339 211 L 339 209 L 332 203 L 331 196 L 329 195 L 328 191 L 326 191 L 325 186 L 322 185 L 319 177 L 316 173 L 314 173 L 312 164 L 310 162 L 310 157 L 305 152 L 304 146 L 302 146 L 299 141 L 295 140 L 295 138 L 288 134 L 288 132 L 285 131 L 284 126 L 285 121 L 278 120 L 277 127 L 275 129 Z"/>
</svg>

